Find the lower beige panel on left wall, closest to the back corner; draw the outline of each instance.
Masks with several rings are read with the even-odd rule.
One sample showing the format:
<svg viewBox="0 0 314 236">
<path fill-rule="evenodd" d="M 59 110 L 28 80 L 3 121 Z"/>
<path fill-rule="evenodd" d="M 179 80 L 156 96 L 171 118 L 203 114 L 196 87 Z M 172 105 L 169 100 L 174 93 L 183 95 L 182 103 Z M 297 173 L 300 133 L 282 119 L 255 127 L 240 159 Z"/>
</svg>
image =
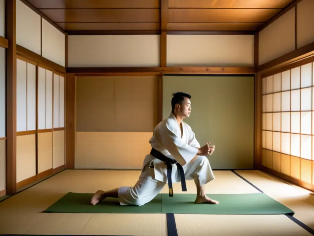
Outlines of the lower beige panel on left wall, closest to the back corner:
<svg viewBox="0 0 314 236">
<path fill-rule="evenodd" d="M 64 130 L 53 131 L 52 134 L 52 168 L 55 169 L 65 164 L 64 159 Z"/>
</svg>

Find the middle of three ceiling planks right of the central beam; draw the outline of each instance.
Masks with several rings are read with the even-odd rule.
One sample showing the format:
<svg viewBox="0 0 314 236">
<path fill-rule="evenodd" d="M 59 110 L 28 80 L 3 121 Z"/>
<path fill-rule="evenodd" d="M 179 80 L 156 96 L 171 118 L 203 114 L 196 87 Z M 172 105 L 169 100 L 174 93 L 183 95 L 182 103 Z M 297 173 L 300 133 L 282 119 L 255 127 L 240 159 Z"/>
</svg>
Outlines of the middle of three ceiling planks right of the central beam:
<svg viewBox="0 0 314 236">
<path fill-rule="evenodd" d="M 168 22 L 264 23 L 278 12 L 279 9 L 169 9 Z"/>
</svg>

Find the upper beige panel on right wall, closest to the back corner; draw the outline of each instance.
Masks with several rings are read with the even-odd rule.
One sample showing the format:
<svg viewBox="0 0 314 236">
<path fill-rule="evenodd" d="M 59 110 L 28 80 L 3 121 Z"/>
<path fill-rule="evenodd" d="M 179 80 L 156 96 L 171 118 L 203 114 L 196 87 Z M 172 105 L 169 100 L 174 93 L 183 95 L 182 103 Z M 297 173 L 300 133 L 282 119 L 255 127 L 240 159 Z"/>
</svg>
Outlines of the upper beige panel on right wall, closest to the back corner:
<svg viewBox="0 0 314 236">
<path fill-rule="evenodd" d="M 295 8 L 260 31 L 258 42 L 259 65 L 295 50 Z"/>
</svg>

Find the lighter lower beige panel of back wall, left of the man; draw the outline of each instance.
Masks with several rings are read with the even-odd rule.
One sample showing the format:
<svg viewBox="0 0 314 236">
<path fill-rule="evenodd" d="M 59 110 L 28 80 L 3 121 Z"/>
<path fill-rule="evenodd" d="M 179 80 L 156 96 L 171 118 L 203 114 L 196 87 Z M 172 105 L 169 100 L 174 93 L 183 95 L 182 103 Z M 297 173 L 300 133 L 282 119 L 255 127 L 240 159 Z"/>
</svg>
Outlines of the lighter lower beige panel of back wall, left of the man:
<svg viewBox="0 0 314 236">
<path fill-rule="evenodd" d="M 141 169 L 152 132 L 77 132 L 75 168 Z"/>
</svg>

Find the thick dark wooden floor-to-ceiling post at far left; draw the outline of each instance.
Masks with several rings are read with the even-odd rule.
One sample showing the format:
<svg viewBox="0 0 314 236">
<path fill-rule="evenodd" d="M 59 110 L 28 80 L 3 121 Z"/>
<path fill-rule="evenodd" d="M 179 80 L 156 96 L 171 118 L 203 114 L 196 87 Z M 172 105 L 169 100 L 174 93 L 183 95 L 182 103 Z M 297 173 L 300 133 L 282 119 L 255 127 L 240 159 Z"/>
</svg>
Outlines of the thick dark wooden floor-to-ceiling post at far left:
<svg viewBox="0 0 314 236">
<path fill-rule="evenodd" d="M 6 0 L 7 194 L 16 193 L 16 1 Z"/>
</svg>

